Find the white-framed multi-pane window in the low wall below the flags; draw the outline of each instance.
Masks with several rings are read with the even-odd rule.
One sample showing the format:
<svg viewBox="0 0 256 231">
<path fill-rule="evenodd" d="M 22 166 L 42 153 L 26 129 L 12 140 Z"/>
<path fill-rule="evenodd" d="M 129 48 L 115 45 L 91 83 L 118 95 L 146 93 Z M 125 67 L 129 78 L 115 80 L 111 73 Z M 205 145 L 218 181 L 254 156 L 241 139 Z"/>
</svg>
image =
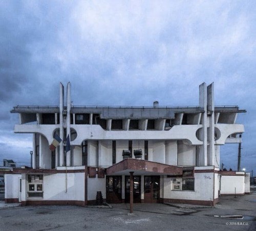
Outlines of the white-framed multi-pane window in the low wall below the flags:
<svg viewBox="0 0 256 231">
<path fill-rule="evenodd" d="M 28 175 L 28 197 L 43 197 L 42 174 Z"/>
</svg>

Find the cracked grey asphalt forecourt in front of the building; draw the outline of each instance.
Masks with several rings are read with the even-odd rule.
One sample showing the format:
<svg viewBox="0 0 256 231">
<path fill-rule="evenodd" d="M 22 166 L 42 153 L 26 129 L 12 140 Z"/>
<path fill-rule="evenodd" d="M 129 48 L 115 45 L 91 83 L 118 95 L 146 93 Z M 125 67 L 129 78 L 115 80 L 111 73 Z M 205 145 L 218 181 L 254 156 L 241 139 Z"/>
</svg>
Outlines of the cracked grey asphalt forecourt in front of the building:
<svg viewBox="0 0 256 231">
<path fill-rule="evenodd" d="M 256 230 L 256 193 L 221 197 L 215 207 L 165 204 L 8 206 L 0 208 L 0 230 Z M 218 215 L 219 217 L 215 217 Z M 242 215 L 244 219 L 221 218 Z"/>
</svg>

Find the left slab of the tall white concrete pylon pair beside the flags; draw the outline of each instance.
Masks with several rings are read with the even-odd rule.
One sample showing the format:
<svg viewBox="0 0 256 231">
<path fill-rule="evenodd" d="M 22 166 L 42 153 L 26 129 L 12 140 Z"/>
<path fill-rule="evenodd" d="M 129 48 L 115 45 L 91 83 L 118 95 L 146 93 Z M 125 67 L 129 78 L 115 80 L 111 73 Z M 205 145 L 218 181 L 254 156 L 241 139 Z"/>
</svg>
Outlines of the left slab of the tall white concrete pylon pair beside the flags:
<svg viewBox="0 0 256 231">
<path fill-rule="evenodd" d="M 63 141 L 63 108 L 64 108 L 64 86 L 62 83 L 59 83 L 59 137 Z M 59 145 L 59 166 L 63 166 L 64 164 L 64 147 L 63 147 L 63 142 L 60 143 Z"/>
</svg>

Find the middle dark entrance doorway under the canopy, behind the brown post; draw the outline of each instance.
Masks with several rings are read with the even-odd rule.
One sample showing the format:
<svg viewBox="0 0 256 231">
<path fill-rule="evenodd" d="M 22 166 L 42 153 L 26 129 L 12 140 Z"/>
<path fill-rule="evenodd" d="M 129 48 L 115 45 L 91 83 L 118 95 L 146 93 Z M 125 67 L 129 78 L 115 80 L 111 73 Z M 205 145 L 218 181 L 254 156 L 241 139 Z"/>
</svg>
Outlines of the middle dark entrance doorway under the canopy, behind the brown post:
<svg viewBox="0 0 256 231">
<path fill-rule="evenodd" d="M 133 202 L 141 203 L 141 177 L 134 176 L 133 180 Z M 125 203 L 130 203 L 130 176 L 125 176 Z"/>
</svg>

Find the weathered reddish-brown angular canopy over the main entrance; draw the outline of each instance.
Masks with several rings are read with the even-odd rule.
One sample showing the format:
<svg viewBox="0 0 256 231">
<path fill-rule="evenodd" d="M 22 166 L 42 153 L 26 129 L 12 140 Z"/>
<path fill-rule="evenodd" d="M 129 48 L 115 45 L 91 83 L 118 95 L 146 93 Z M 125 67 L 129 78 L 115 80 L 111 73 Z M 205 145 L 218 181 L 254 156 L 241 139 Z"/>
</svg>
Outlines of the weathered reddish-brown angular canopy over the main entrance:
<svg viewBox="0 0 256 231">
<path fill-rule="evenodd" d="M 106 175 L 182 175 L 182 168 L 148 160 L 126 158 L 106 169 Z"/>
</svg>

